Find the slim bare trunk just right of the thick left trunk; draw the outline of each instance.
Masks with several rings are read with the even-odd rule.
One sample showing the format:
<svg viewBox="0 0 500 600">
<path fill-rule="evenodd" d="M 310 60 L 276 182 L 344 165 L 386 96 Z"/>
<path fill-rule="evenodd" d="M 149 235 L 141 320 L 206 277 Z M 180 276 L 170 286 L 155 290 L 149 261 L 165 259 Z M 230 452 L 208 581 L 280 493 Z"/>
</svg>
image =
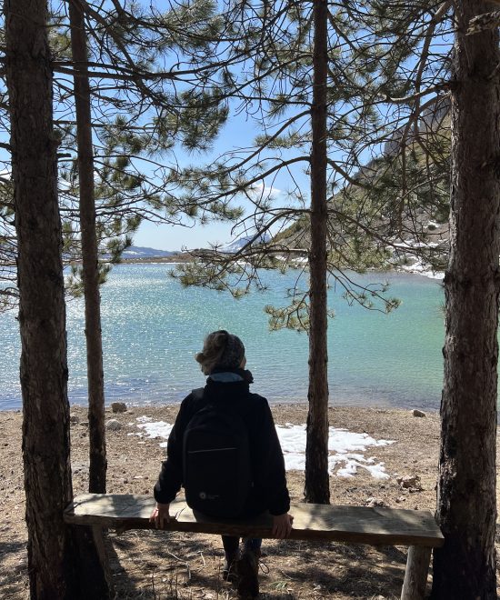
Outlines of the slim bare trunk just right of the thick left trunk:
<svg viewBox="0 0 500 600">
<path fill-rule="evenodd" d="M 105 391 L 101 297 L 97 235 L 95 233 L 94 145 L 90 86 L 87 61 L 85 18 L 78 0 L 69 3 L 71 50 L 75 62 L 76 141 L 78 145 L 78 183 L 80 191 L 80 228 L 82 269 L 85 291 L 85 339 L 88 381 L 89 492 L 105 494 Z"/>
</svg>

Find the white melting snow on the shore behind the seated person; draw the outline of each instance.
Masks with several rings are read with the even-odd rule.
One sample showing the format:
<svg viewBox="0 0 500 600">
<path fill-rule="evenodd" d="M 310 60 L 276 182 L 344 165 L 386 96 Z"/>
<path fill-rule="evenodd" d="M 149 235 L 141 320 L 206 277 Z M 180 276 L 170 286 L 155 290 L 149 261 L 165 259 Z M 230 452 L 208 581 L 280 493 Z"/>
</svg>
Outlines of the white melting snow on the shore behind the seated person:
<svg viewBox="0 0 500 600">
<path fill-rule="evenodd" d="M 129 435 L 139 437 L 160 438 L 164 442 L 161 447 L 166 446 L 168 435 L 173 425 L 165 421 L 156 421 L 148 416 L 137 417 L 137 427 L 141 432 Z M 129 424 L 130 425 L 130 424 Z M 285 457 L 285 468 L 287 471 L 305 470 L 305 425 L 276 425 L 283 455 Z M 329 428 L 328 437 L 328 472 L 330 475 L 339 477 L 354 477 L 359 469 L 365 469 L 375 479 L 388 479 L 385 473 L 385 464 L 376 462 L 375 456 L 365 457 L 366 449 L 369 447 L 381 447 L 394 444 L 394 440 L 375 440 L 368 434 L 356 434 L 347 429 L 336 427 Z"/>
</svg>

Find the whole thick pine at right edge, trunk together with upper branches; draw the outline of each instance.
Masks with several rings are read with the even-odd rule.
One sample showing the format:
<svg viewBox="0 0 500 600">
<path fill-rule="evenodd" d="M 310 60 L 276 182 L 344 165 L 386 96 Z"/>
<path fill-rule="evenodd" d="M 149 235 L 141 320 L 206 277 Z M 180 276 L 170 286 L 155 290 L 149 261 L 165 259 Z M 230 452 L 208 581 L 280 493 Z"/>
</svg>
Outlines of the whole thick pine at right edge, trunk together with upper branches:
<svg viewBox="0 0 500 600">
<path fill-rule="evenodd" d="M 401 204 L 412 202 L 408 177 L 425 150 L 429 165 L 427 190 L 436 178 L 451 182 L 449 258 L 445 272 L 446 336 L 445 383 L 441 405 L 442 435 L 439 462 L 437 518 L 445 546 L 435 550 L 433 597 L 493 598 L 495 582 L 496 519 L 496 403 L 498 325 L 499 178 L 495 168 L 498 147 L 498 32 L 480 26 L 490 5 L 468 0 L 445 2 L 428 14 L 425 6 L 405 3 L 397 14 L 394 5 L 377 3 L 375 15 L 393 32 L 394 48 L 404 49 L 415 37 L 420 49 L 416 66 L 406 65 L 400 81 L 407 100 L 408 125 L 401 131 Z M 450 34 L 455 43 L 452 49 Z M 467 35 L 467 32 L 469 35 Z M 397 58 L 393 52 L 391 60 Z M 402 57 L 394 65 L 405 75 Z M 418 86 L 417 86 L 418 85 Z M 425 93 L 425 95 L 424 95 Z M 434 160 L 425 148 L 418 119 L 425 106 L 436 106 L 435 93 L 451 98 L 449 155 Z M 437 101 L 439 102 L 439 101 Z M 413 124 L 413 125 L 412 125 Z M 413 132 L 412 132 L 413 127 Z M 443 132 L 443 130 L 441 130 Z M 410 139 L 413 138 L 413 139 Z M 449 139 L 449 143 L 448 139 Z M 446 144 L 447 143 L 447 144 Z M 421 153 L 422 154 L 422 153 Z M 448 158 L 449 156 L 449 158 Z M 410 160 L 409 160 L 410 159 Z M 422 160 L 420 160 L 422 164 Z M 446 173 L 449 165 L 449 173 Z M 418 189 L 418 188 L 417 188 Z M 416 199 L 435 202 L 425 190 Z M 441 195 L 442 192 L 438 192 Z M 443 211 L 446 203 L 435 205 Z M 396 213 L 397 215 L 397 213 Z M 399 224 L 401 220 L 399 220 Z M 395 222 L 396 225 L 397 219 Z"/>
</svg>

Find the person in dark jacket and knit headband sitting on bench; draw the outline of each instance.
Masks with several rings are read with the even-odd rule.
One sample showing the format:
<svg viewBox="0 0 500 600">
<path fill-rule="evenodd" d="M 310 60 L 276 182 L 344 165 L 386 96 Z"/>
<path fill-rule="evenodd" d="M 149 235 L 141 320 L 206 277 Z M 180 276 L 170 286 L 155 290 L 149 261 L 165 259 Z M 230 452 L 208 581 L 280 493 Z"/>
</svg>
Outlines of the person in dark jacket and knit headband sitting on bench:
<svg viewBox="0 0 500 600">
<path fill-rule="evenodd" d="M 155 485 L 151 521 L 169 522 L 169 505 L 185 487 L 186 502 L 209 516 L 246 519 L 268 511 L 273 535 L 284 539 L 292 531 L 288 514 L 285 461 L 267 400 L 249 391 L 245 346 L 225 330 L 206 336 L 195 355 L 206 385 L 183 400 L 169 435 L 167 458 Z M 259 593 L 258 557 L 261 539 L 223 535 L 223 576 L 237 585 L 241 598 Z"/>
</svg>

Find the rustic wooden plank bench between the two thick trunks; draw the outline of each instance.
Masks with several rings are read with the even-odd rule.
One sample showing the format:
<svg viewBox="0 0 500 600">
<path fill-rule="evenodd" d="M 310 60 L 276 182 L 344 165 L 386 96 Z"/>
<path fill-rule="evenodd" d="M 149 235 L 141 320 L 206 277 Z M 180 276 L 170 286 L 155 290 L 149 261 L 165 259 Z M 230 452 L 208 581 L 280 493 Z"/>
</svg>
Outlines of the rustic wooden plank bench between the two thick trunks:
<svg viewBox="0 0 500 600">
<path fill-rule="evenodd" d="M 154 529 L 149 522 L 154 507 L 155 500 L 148 495 L 79 495 L 66 508 L 65 522 L 92 528 L 106 569 L 103 530 Z M 175 520 L 165 526 L 166 531 L 272 537 L 270 515 L 245 521 L 213 519 L 192 511 L 180 500 L 172 503 L 170 513 Z M 294 515 L 291 539 L 408 546 L 401 598 L 424 598 L 432 548 L 445 543 L 430 511 L 296 504 L 290 513 Z"/>
</svg>

